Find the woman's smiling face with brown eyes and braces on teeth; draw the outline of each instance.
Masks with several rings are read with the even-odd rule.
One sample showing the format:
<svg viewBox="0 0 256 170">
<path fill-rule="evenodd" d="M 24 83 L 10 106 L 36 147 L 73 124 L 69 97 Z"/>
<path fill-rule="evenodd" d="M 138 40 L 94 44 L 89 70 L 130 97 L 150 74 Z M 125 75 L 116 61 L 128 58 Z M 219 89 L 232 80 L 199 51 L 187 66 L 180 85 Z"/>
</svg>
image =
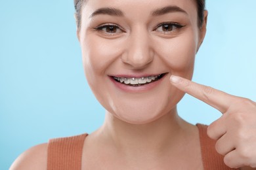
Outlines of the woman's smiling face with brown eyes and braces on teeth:
<svg viewBox="0 0 256 170">
<path fill-rule="evenodd" d="M 78 33 L 89 86 L 119 120 L 152 122 L 184 95 L 169 78 L 192 78 L 202 30 L 194 0 L 89 0 Z"/>
</svg>

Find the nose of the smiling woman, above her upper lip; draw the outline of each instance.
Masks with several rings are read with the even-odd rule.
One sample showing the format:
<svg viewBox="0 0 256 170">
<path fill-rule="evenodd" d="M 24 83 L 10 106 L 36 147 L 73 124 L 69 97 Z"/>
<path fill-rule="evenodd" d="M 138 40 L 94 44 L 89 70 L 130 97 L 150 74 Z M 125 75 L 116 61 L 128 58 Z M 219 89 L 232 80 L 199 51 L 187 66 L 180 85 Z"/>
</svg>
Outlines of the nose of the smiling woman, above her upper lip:
<svg viewBox="0 0 256 170">
<path fill-rule="evenodd" d="M 148 31 L 133 31 L 127 41 L 126 51 L 121 56 L 123 63 L 133 69 L 143 69 L 154 59 L 154 50 L 150 46 Z"/>
</svg>

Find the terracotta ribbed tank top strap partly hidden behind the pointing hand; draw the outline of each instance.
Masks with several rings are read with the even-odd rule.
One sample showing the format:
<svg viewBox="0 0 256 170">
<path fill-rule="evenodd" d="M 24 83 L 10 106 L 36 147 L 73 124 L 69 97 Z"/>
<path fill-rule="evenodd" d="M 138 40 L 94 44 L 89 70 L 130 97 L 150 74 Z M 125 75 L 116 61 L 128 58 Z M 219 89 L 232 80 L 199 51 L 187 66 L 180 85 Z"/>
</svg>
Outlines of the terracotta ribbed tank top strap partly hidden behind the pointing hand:
<svg viewBox="0 0 256 170">
<path fill-rule="evenodd" d="M 224 164 L 223 156 L 215 150 L 216 141 L 207 136 L 207 126 L 197 124 L 199 135 L 201 154 L 204 170 L 229 170 L 232 169 Z"/>
</svg>

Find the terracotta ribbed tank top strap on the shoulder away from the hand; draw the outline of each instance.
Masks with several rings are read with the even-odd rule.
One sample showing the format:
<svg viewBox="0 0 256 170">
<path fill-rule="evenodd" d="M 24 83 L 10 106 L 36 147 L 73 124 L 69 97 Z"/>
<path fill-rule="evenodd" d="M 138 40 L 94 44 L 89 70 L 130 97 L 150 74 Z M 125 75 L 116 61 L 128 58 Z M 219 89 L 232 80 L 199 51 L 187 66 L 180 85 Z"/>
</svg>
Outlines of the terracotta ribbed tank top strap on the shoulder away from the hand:
<svg viewBox="0 0 256 170">
<path fill-rule="evenodd" d="M 81 170 L 86 136 L 51 139 L 48 144 L 47 170 Z"/>
</svg>

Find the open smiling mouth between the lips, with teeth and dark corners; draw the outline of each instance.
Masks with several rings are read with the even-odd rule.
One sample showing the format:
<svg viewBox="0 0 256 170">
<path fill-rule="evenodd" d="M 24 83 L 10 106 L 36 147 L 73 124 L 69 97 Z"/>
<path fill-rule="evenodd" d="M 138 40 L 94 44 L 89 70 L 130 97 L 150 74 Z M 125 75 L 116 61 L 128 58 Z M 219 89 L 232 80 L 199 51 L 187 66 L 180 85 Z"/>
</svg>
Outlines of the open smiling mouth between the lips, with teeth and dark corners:
<svg viewBox="0 0 256 170">
<path fill-rule="evenodd" d="M 144 86 L 146 84 L 150 84 L 152 82 L 156 82 L 160 80 L 165 75 L 166 73 L 163 73 L 161 75 L 156 75 L 156 76 L 142 76 L 139 78 L 116 77 L 116 76 L 113 76 L 113 78 L 114 80 L 116 80 L 116 82 L 125 84 L 127 86 Z"/>
</svg>

